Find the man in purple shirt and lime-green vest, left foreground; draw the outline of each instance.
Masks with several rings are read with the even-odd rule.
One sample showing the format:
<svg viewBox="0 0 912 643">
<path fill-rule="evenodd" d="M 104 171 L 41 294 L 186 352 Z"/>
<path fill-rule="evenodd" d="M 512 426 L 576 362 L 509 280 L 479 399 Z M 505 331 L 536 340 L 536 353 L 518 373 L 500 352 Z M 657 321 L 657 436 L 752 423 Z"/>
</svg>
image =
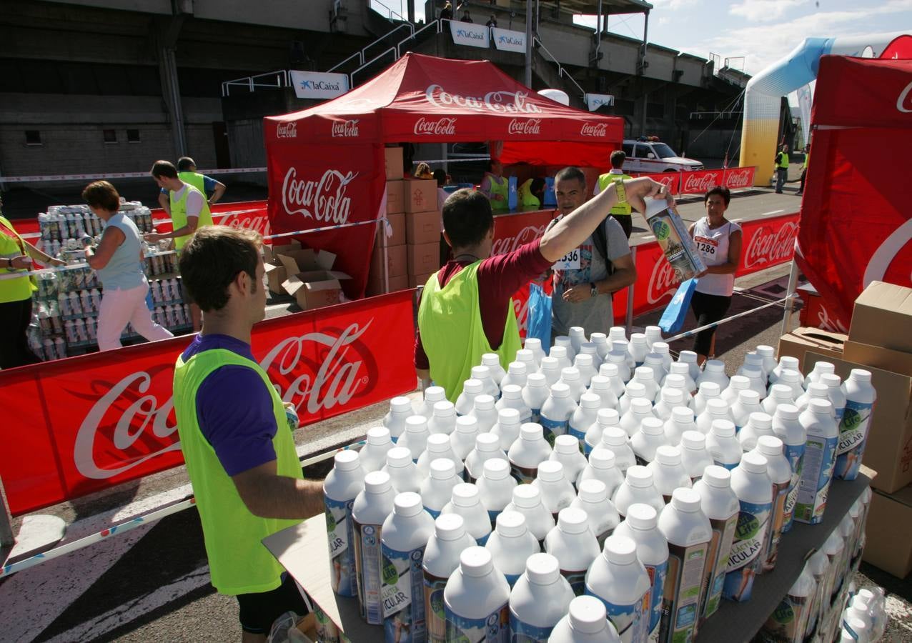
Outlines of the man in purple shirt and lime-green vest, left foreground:
<svg viewBox="0 0 912 643">
<path fill-rule="evenodd" d="M 237 596 L 243 641 L 306 605 L 262 540 L 323 513 L 304 480 L 282 399 L 251 350 L 265 316 L 260 235 L 206 226 L 181 253 L 188 295 L 206 313 L 174 368 L 174 414 L 200 512 L 212 586 Z"/>
</svg>

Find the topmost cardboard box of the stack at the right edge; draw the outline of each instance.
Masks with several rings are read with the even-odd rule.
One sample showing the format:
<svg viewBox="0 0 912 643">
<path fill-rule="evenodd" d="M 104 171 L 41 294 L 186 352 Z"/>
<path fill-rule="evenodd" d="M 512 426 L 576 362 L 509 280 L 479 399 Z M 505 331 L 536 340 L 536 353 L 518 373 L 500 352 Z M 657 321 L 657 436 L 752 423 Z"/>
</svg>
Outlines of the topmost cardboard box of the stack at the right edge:
<svg viewBox="0 0 912 643">
<path fill-rule="evenodd" d="M 855 299 L 849 339 L 912 353 L 912 288 L 873 281 Z"/>
</svg>

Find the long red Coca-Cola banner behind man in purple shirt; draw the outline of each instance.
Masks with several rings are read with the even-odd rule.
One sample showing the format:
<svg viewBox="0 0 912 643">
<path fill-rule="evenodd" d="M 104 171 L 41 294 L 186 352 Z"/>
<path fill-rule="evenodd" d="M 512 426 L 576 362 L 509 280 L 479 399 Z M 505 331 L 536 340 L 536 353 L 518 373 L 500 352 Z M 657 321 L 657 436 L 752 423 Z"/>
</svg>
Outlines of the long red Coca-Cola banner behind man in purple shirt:
<svg viewBox="0 0 912 643">
<path fill-rule="evenodd" d="M 254 358 L 301 425 L 414 389 L 411 297 L 402 291 L 254 327 Z M 0 371 L 0 477 L 10 511 L 181 464 L 171 382 L 190 339 Z"/>
</svg>

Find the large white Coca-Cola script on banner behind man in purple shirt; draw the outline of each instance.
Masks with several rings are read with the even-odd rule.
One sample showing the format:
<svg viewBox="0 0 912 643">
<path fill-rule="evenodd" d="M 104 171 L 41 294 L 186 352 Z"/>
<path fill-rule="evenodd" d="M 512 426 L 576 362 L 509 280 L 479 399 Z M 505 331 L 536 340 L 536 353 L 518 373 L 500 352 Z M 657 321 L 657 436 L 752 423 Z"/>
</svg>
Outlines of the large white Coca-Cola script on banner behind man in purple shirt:
<svg viewBox="0 0 912 643">
<path fill-rule="evenodd" d="M 358 337 L 364 334 L 373 321 L 371 318 L 363 326 L 352 324 L 337 336 L 314 332 L 286 337 L 267 353 L 260 366 L 275 374 L 274 381 L 294 378 L 285 388 L 282 399 L 294 404 L 299 411 L 315 415 L 322 410 L 347 404 L 369 384 L 368 376 L 361 372 L 365 358 L 358 353 L 357 347 Z M 323 355 L 316 373 L 301 368 L 306 365 L 307 356 L 314 352 Z M 135 443 L 148 441 L 148 437 L 143 439 L 147 430 L 151 430 L 158 441 L 170 437 L 177 430 L 177 425 L 169 424 L 168 421 L 174 406 L 173 398 L 161 400 L 160 403 L 160 399 L 154 395 L 147 395 L 151 381 L 152 376 L 148 372 L 130 373 L 110 387 L 88 411 L 79 426 L 73 450 L 73 460 L 78 472 L 84 477 L 106 480 L 130 471 L 151 458 L 181 449 L 181 442 L 174 441 L 139 458 L 123 457 L 120 462 L 128 462 L 118 467 L 108 468 L 103 462 L 98 462 L 95 451 L 99 427 L 109 413 L 118 412 L 127 403 L 131 402 L 120 414 L 111 438 L 112 444 L 119 451 L 129 451 Z"/>
</svg>

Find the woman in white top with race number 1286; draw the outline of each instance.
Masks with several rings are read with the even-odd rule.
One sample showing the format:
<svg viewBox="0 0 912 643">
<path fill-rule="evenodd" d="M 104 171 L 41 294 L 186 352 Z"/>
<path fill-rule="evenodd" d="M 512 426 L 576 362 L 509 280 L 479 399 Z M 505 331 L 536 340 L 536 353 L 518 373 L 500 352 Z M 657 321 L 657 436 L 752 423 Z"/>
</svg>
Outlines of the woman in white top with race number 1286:
<svg viewBox="0 0 912 643">
<path fill-rule="evenodd" d="M 741 262 L 741 226 L 725 218 L 731 202 L 731 192 L 720 185 L 703 196 L 706 216 L 690 225 L 690 236 L 697 245 L 707 271 L 697 280 L 697 289 L 690 308 L 697 317 L 697 326 L 719 321 L 731 306 L 735 271 Z M 693 342 L 698 362 L 715 356 L 716 329 L 697 334 Z"/>
</svg>

